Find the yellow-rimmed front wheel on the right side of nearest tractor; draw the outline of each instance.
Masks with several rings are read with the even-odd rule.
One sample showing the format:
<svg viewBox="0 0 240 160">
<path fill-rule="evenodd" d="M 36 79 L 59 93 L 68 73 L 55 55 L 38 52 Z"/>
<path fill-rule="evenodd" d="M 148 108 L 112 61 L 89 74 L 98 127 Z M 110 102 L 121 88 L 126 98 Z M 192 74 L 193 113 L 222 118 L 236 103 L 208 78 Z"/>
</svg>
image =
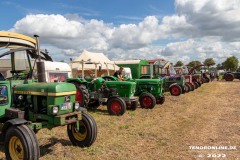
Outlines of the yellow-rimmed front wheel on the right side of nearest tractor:
<svg viewBox="0 0 240 160">
<path fill-rule="evenodd" d="M 78 124 L 77 124 L 78 123 Z M 89 147 L 97 138 L 97 125 L 93 117 L 82 112 L 82 120 L 67 126 L 67 133 L 74 146 Z"/>
</svg>

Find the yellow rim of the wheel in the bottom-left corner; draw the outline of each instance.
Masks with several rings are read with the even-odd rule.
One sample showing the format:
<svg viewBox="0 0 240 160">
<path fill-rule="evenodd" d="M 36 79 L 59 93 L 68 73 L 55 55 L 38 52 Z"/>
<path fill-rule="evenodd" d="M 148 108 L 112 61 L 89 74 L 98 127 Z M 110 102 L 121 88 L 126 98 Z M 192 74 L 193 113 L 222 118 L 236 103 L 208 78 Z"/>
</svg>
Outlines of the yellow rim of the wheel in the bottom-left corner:
<svg viewBox="0 0 240 160">
<path fill-rule="evenodd" d="M 24 149 L 21 140 L 13 136 L 9 141 L 9 153 L 12 159 L 20 160 L 24 158 Z"/>
</svg>

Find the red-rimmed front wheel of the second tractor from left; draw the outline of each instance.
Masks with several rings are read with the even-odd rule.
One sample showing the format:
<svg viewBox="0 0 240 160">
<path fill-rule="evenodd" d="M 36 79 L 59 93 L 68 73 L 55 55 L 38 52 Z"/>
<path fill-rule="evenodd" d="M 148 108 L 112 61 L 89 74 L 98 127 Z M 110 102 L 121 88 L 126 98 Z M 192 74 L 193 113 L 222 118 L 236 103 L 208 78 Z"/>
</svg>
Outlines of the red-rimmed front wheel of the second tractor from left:
<svg viewBox="0 0 240 160">
<path fill-rule="evenodd" d="M 114 97 L 108 100 L 107 110 L 110 115 L 123 115 L 126 112 L 126 103 L 122 98 Z"/>
</svg>

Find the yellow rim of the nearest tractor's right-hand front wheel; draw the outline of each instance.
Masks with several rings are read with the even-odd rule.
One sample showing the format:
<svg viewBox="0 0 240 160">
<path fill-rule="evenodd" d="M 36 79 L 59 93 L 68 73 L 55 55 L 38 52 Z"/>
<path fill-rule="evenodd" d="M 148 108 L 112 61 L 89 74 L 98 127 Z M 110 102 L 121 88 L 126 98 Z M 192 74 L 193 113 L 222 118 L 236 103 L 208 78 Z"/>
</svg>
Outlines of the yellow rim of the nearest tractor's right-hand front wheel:
<svg viewBox="0 0 240 160">
<path fill-rule="evenodd" d="M 87 127 L 82 121 L 79 121 L 79 128 L 76 128 L 76 124 L 72 125 L 72 134 L 78 141 L 83 141 L 87 137 Z"/>
</svg>

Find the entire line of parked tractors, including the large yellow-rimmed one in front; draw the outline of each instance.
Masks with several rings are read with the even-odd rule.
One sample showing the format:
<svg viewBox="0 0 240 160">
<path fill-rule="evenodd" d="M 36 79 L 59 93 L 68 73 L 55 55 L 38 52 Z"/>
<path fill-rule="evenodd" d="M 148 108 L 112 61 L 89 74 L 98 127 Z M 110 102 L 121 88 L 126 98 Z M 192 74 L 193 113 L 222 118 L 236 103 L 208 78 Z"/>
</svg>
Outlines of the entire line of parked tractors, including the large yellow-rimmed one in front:
<svg viewBox="0 0 240 160">
<path fill-rule="evenodd" d="M 196 72 L 201 65 L 173 68 L 166 61 L 137 65 L 125 61 L 116 62 L 126 69 L 125 73 L 127 69 L 133 71 L 131 76 L 126 74 L 125 81 L 106 75 L 68 77 L 65 82 L 48 83 L 45 63 L 50 61 L 54 66 L 54 62 L 49 54 L 40 51 L 35 37 L 0 32 L 0 47 L 10 49 L 0 58 L 11 59 L 12 74 L 7 78 L 0 75 L 0 141 L 5 145 L 7 159 L 39 159 L 35 133 L 42 128 L 67 126 L 73 145 L 91 146 L 97 138 L 97 125 L 86 108 L 106 105 L 111 115 L 123 115 L 138 104 L 152 109 L 164 103 L 165 92 L 179 96 L 209 82 L 206 75 Z"/>
</svg>

